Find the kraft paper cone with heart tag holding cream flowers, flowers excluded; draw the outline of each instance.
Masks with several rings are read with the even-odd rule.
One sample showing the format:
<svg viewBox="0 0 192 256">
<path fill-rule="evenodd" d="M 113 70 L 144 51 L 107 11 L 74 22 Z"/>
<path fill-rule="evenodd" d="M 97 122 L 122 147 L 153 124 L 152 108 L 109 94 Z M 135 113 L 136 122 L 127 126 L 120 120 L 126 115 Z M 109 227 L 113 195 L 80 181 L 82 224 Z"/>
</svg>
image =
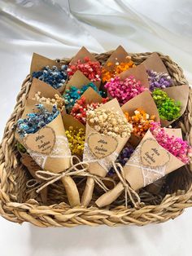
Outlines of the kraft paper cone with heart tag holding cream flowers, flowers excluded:
<svg viewBox="0 0 192 256">
<path fill-rule="evenodd" d="M 120 115 L 124 115 L 120 108 L 120 104 L 117 99 L 103 104 L 99 107 L 107 110 L 114 108 L 114 111 L 119 111 Z M 98 175 L 104 178 L 107 171 L 111 168 L 111 161 L 116 161 L 116 158 L 120 154 L 128 138 L 112 137 L 110 135 L 102 135 L 95 131 L 86 124 L 85 132 L 85 149 L 83 160 L 89 162 L 88 171 L 90 174 Z M 92 178 L 87 179 L 85 191 L 81 199 L 82 205 L 89 205 L 94 191 L 94 180 Z"/>
</svg>

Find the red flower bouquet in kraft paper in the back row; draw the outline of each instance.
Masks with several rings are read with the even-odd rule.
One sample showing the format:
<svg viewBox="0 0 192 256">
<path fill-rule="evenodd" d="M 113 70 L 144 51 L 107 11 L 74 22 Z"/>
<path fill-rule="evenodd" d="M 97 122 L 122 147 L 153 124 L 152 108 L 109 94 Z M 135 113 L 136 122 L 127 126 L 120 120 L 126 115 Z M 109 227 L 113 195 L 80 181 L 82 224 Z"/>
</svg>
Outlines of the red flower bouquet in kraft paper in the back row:
<svg viewBox="0 0 192 256">
<path fill-rule="evenodd" d="M 68 64 L 68 76 L 72 77 L 77 70 L 80 70 L 85 77 L 94 82 L 98 87 L 101 83 L 101 66 L 94 55 L 90 54 L 85 47 L 82 47 Z"/>
</svg>

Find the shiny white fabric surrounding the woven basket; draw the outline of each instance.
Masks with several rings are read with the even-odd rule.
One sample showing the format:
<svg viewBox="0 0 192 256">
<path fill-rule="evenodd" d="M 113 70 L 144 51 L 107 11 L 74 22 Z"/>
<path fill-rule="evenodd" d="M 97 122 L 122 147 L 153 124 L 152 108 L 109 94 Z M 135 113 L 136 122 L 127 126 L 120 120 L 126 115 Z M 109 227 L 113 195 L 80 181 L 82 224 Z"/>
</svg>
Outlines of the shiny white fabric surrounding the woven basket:
<svg viewBox="0 0 192 256">
<path fill-rule="evenodd" d="M 72 56 L 81 46 L 102 52 L 161 51 L 192 83 L 190 0 L 0 0 L 0 137 L 28 74 L 33 52 Z M 190 256 L 192 210 L 147 227 L 21 227 L 0 218 L 2 256 Z"/>
</svg>

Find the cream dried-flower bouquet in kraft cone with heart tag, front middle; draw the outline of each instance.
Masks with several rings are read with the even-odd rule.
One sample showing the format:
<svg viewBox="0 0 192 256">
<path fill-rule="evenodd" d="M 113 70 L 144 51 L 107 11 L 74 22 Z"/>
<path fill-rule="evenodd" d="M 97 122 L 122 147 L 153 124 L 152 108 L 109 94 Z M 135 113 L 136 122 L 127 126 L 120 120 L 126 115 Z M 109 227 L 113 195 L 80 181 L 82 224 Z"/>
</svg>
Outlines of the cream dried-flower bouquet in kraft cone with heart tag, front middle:
<svg viewBox="0 0 192 256">
<path fill-rule="evenodd" d="M 116 99 L 87 113 L 83 161 L 89 163 L 90 174 L 104 178 L 130 137 L 132 126 L 124 117 Z M 82 205 L 89 205 L 94 179 L 88 178 Z"/>
</svg>

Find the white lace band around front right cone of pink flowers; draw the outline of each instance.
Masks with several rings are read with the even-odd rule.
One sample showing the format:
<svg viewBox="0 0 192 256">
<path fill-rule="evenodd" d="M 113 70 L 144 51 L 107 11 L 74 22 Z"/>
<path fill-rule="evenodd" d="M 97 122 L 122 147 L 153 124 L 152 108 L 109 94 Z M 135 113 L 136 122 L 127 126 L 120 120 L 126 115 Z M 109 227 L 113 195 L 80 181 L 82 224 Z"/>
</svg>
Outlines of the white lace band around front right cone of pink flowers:
<svg viewBox="0 0 192 256">
<path fill-rule="evenodd" d="M 166 165 L 158 166 L 158 167 L 146 167 L 142 165 L 141 162 L 141 154 L 140 154 L 141 146 L 138 146 L 136 150 L 133 152 L 133 155 L 129 158 L 129 161 L 125 166 L 133 166 L 142 170 L 143 177 L 143 187 L 155 182 L 155 180 L 164 177 Z"/>
</svg>

